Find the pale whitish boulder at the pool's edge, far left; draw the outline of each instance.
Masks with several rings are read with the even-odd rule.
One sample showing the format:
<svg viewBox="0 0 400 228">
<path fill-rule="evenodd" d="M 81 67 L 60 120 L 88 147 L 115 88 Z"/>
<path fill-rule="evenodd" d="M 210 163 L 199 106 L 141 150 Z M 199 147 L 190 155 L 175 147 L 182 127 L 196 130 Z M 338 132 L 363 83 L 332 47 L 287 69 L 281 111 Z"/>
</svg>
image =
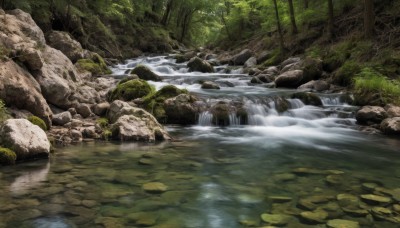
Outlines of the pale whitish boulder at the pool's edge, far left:
<svg viewBox="0 0 400 228">
<path fill-rule="evenodd" d="M 0 136 L 1 144 L 13 148 L 17 160 L 47 157 L 50 153 L 50 142 L 46 133 L 28 120 L 5 121 Z"/>
</svg>

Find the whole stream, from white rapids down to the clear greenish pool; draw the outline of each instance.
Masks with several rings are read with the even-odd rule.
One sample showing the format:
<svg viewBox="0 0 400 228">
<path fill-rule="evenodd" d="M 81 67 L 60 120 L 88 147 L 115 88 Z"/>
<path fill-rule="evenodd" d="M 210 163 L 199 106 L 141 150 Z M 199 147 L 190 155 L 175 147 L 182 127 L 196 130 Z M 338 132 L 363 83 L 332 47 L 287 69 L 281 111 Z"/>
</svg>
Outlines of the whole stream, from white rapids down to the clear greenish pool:
<svg viewBox="0 0 400 228">
<path fill-rule="evenodd" d="M 138 64 L 163 77 L 151 82 L 157 89 L 188 89 L 209 107 L 240 104 L 247 120 L 232 111 L 216 126 L 205 111 L 197 125 L 167 127 L 178 142 L 85 143 L 49 161 L 0 168 L 0 227 L 261 227 L 265 213 L 288 215 L 272 222 L 286 227 L 332 219 L 398 227 L 400 141 L 357 131 L 356 108 L 343 94 L 318 94 L 323 107 L 304 105 L 290 99 L 294 91 L 249 85 L 241 69 L 189 73 L 166 56 L 129 60 L 114 75 Z M 200 80 L 221 89 L 202 90 Z M 277 111 L 277 97 L 288 110 Z M 361 200 L 372 193 L 390 202 Z M 300 215 L 314 210 L 326 215 Z"/>
</svg>

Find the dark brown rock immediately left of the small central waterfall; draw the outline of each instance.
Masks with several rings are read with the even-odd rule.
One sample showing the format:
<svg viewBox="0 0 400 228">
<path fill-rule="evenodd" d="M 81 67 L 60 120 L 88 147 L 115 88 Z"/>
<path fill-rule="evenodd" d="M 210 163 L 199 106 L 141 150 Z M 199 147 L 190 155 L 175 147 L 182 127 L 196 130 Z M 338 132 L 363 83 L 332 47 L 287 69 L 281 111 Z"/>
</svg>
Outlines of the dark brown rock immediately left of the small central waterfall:
<svg viewBox="0 0 400 228">
<path fill-rule="evenodd" d="M 189 94 L 181 94 L 164 101 L 164 110 L 167 123 L 196 124 L 196 117 L 200 113 L 197 98 Z"/>
</svg>

